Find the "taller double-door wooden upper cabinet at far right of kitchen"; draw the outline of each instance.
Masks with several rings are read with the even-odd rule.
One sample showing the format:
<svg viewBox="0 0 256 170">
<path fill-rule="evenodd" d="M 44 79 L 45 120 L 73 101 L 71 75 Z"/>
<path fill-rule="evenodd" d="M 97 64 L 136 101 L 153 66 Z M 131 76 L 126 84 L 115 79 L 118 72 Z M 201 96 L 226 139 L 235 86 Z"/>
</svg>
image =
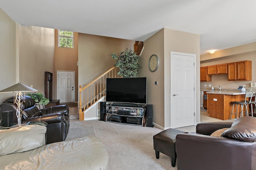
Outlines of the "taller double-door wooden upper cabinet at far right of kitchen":
<svg viewBox="0 0 256 170">
<path fill-rule="evenodd" d="M 228 63 L 228 80 L 252 80 L 252 61 Z"/>
</svg>

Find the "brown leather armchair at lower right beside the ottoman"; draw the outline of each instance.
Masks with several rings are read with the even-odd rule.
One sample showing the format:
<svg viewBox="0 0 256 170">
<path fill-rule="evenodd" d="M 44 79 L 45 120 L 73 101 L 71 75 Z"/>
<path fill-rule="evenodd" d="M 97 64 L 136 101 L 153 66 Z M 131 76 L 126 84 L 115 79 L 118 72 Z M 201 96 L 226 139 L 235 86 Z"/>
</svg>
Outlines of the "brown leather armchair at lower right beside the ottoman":
<svg viewBox="0 0 256 170">
<path fill-rule="evenodd" d="M 256 117 L 198 123 L 196 133 L 176 136 L 176 152 L 178 170 L 256 170 Z"/>
</svg>

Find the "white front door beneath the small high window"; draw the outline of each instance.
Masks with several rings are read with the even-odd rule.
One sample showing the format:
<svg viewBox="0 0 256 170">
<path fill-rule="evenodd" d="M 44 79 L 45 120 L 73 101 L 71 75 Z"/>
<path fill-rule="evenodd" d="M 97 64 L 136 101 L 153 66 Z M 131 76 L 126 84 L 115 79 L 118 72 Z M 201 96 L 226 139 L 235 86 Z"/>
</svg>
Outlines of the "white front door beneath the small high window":
<svg viewBox="0 0 256 170">
<path fill-rule="evenodd" d="M 75 102 L 74 71 L 57 71 L 58 96 L 60 103 Z"/>
</svg>

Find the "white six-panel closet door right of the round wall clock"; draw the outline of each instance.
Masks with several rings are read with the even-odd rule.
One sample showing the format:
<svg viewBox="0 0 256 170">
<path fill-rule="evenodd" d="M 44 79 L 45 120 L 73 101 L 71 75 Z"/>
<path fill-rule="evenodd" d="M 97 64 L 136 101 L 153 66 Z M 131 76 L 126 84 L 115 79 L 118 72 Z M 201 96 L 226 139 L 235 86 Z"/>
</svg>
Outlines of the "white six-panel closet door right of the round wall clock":
<svg viewBox="0 0 256 170">
<path fill-rule="evenodd" d="M 194 125 L 193 54 L 171 52 L 171 127 Z"/>
</svg>

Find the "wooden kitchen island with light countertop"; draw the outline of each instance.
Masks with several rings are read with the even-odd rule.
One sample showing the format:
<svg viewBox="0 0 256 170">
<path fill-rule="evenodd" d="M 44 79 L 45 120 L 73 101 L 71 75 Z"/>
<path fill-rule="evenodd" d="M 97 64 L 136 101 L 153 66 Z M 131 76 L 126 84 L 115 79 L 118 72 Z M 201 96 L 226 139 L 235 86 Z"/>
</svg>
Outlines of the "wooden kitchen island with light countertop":
<svg viewBox="0 0 256 170">
<path fill-rule="evenodd" d="M 230 118 L 233 101 L 244 100 L 246 92 L 241 91 L 208 91 L 207 94 L 207 112 L 210 117 L 226 120 Z M 238 112 L 239 112 L 238 108 Z M 234 107 L 236 111 L 236 107 Z M 233 112 L 234 112 L 233 111 Z M 235 115 L 232 115 L 235 118 Z"/>
</svg>

